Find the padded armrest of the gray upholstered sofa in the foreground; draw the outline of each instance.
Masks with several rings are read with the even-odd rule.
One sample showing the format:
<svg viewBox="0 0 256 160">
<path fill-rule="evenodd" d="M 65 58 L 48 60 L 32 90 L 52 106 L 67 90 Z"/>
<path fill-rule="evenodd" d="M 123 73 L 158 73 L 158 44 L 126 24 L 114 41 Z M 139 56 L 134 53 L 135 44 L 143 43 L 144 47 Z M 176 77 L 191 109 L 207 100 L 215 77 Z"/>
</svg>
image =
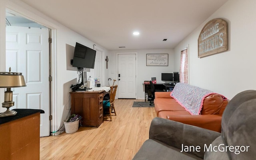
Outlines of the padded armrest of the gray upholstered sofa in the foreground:
<svg viewBox="0 0 256 160">
<path fill-rule="evenodd" d="M 207 130 L 197 126 L 156 117 L 152 120 L 149 138 L 158 140 L 182 151 L 182 146 L 200 146 L 200 152 L 188 152 L 204 158 L 204 145 L 209 146 L 218 136 L 219 132 Z M 184 148 L 184 147 L 183 147 Z"/>
</svg>

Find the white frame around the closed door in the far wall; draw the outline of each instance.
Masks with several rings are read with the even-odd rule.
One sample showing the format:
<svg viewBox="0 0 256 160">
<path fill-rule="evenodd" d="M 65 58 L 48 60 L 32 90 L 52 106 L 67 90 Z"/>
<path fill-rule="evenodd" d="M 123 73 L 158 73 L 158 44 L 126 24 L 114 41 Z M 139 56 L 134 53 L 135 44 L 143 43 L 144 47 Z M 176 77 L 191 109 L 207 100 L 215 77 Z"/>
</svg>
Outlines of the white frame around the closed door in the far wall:
<svg viewBox="0 0 256 160">
<path fill-rule="evenodd" d="M 135 92 L 136 92 L 136 99 L 138 99 L 138 52 L 117 52 L 116 53 L 116 84 L 118 85 L 118 55 L 120 54 L 135 54 L 135 64 L 136 64 L 136 75 L 135 75 Z M 117 99 L 118 99 L 118 90 L 116 91 L 116 96 L 117 96 Z"/>
</svg>

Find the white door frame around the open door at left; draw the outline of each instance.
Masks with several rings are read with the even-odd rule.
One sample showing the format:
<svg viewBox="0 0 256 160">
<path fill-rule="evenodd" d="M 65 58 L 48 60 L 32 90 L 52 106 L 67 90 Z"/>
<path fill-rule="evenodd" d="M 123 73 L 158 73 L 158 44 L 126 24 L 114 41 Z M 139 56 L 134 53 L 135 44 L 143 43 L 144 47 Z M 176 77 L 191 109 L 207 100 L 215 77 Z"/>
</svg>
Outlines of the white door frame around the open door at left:
<svg viewBox="0 0 256 160">
<path fill-rule="evenodd" d="M 29 20 L 32 20 L 38 24 L 41 24 L 43 26 L 46 26 L 47 28 L 50 29 L 50 38 L 52 38 L 52 43 L 50 43 L 50 59 L 49 59 L 49 67 L 50 67 L 50 71 L 49 74 L 52 76 L 52 81 L 49 82 L 50 83 L 50 115 L 52 115 L 52 120 L 49 120 L 50 123 L 50 135 L 51 132 L 53 130 L 58 130 L 58 120 L 57 120 L 57 28 L 58 26 L 56 26 L 55 24 L 53 24 L 52 22 L 46 20 L 44 18 L 44 16 L 38 16 L 41 14 L 34 14 L 33 12 L 30 12 L 29 10 L 27 10 L 26 6 L 24 7 L 24 4 L 20 4 L 20 3 L 13 3 L 8 1 L 8 3 L 6 3 L 5 6 L 5 10 L 6 8 L 13 10 L 14 12 L 17 12 L 18 14 L 20 14 L 21 16 L 23 16 L 24 18 L 27 18 Z M 4 12 L 5 12 L 4 10 Z M 32 15 L 32 16 L 31 16 Z M 4 15 L 5 17 L 5 15 Z M 6 33 L 6 30 L 4 28 L 4 33 Z M 4 34 L 5 35 L 5 34 Z M 4 41 L 5 41 L 5 36 L 3 37 Z M 1 43 L 2 44 L 2 43 Z M 5 42 L 4 42 L 4 46 L 5 46 Z M 2 47 L 1 47 L 2 48 Z M 3 47 L 5 49 L 5 47 Z M 4 56 L 5 57 L 5 56 Z M 5 58 L 4 58 L 5 59 Z M 1 65 L 2 67 L 2 65 Z M 4 63 L 4 68 L 5 68 L 5 63 Z M 49 115 L 49 116 L 50 116 Z M 52 135 L 57 135 L 57 133 L 53 133 Z"/>
</svg>

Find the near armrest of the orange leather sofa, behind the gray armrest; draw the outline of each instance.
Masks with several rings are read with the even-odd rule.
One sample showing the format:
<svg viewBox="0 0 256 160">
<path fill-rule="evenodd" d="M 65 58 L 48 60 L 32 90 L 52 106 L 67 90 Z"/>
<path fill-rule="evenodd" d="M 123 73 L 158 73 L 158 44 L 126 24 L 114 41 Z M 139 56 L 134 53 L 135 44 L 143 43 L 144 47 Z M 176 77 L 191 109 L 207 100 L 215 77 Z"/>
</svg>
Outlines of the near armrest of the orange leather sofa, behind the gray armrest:
<svg viewBox="0 0 256 160">
<path fill-rule="evenodd" d="M 221 132 L 221 116 L 218 115 L 167 115 L 166 119 Z"/>
</svg>

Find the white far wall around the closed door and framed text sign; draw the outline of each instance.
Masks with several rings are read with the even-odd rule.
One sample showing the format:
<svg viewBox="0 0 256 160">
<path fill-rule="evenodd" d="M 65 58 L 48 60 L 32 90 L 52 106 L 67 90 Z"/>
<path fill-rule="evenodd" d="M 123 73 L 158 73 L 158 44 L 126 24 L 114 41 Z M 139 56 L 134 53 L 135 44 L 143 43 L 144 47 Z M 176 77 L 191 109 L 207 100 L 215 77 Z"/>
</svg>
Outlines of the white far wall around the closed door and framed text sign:
<svg viewBox="0 0 256 160">
<path fill-rule="evenodd" d="M 157 83 L 161 81 L 161 73 L 172 73 L 174 71 L 174 50 L 173 49 L 141 49 L 141 50 L 116 50 L 110 51 L 108 55 L 108 78 L 117 79 L 116 71 L 116 53 L 137 52 L 138 53 L 138 99 L 144 99 L 144 87 L 142 83 L 145 80 L 151 80 L 151 77 L 156 77 Z M 168 53 L 168 66 L 146 66 L 146 54 Z"/>
</svg>

